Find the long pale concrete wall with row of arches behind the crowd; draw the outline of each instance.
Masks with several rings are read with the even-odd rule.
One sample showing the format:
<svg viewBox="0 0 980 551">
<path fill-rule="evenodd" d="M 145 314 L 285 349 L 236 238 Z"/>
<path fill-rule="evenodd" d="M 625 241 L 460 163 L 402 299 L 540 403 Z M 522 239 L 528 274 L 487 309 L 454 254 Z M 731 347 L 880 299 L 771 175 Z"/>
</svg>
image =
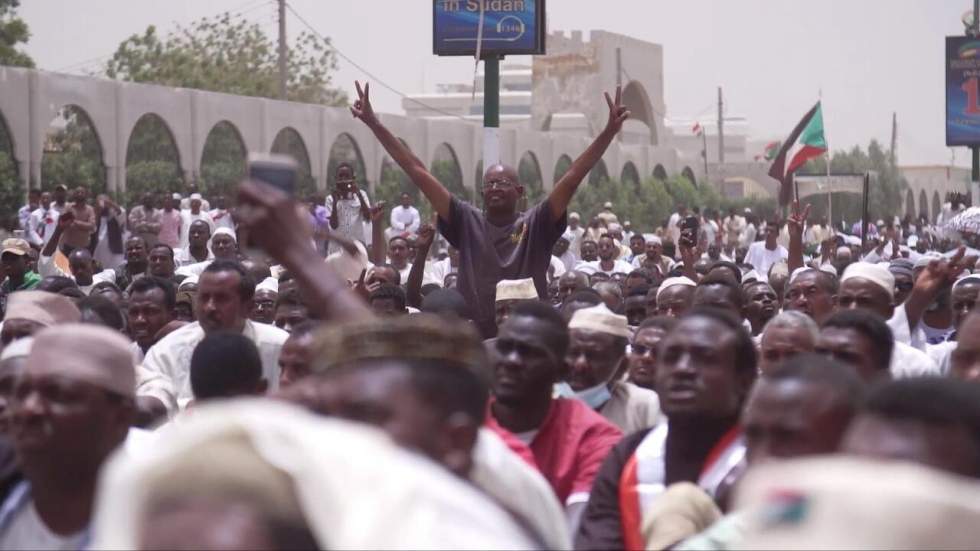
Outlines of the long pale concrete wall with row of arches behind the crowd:
<svg viewBox="0 0 980 551">
<path fill-rule="evenodd" d="M 607 52 L 608 53 L 608 52 Z M 659 85 L 640 79 L 650 94 L 656 124 L 662 124 Z M 656 98 L 656 99 L 655 99 Z M 597 101 L 601 102 L 601 95 Z M 152 113 L 170 129 L 187 181 L 200 178 L 201 156 L 208 132 L 220 121 L 232 123 L 248 151 L 268 152 L 276 135 L 292 128 L 302 138 L 310 157 L 313 178 L 320 190 L 326 187 L 326 167 L 331 145 L 343 133 L 350 134 L 364 158 L 371 185 L 381 178 L 385 152 L 371 131 L 344 107 L 284 102 L 172 88 L 107 79 L 49 73 L 0 66 L 0 114 L 7 121 L 14 160 L 20 177 L 40 185 L 44 137 L 51 120 L 65 105 L 77 105 L 91 118 L 103 151 L 107 186 L 124 191 L 126 149 L 140 117 Z M 595 116 L 600 113 L 596 111 Z M 463 185 L 476 189 L 476 168 L 482 158 L 483 129 L 478 124 L 451 120 L 408 119 L 380 115 L 385 125 L 400 137 L 424 162 L 431 161 L 436 147 L 450 144 L 463 175 Z M 604 121 L 603 121 L 604 122 Z M 525 151 L 531 151 L 541 167 L 546 191 L 552 187 L 555 164 L 562 155 L 578 157 L 592 138 L 578 134 L 541 132 L 518 128 L 500 131 L 501 159 L 516 166 Z M 622 174 L 632 162 L 641 179 L 662 165 L 668 174 L 680 172 L 677 151 L 648 144 L 614 141 L 603 157 L 611 177 Z"/>
</svg>

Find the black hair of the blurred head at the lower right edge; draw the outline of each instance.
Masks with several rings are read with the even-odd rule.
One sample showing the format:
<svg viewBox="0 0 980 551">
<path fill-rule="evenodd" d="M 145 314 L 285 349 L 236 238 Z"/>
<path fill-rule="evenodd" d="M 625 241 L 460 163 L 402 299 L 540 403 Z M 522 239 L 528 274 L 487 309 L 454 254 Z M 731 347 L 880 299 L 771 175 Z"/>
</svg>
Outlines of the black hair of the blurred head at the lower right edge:
<svg viewBox="0 0 980 551">
<path fill-rule="evenodd" d="M 974 476 L 980 476 L 980 383 L 942 377 L 887 381 L 872 388 L 862 412 L 896 421 L 962 427 L 973 437 Z"/>
</svg>

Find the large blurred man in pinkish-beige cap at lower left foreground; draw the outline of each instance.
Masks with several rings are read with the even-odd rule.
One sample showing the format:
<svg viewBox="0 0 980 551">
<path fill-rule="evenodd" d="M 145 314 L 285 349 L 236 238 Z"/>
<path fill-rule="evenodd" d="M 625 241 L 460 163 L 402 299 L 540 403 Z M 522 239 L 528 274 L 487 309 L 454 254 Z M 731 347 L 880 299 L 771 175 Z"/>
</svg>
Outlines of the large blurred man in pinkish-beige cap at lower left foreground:
<svg viewBox="0 0 980 551">
<path fill-rule="evenodd" d="M 135 383 L 115 331 L 68 324 L 35 335 L 10 402 L 25 480 L 0 508 L 0 548 L 87 546 L 98 473 L 126 440 Z"/>
</svg>

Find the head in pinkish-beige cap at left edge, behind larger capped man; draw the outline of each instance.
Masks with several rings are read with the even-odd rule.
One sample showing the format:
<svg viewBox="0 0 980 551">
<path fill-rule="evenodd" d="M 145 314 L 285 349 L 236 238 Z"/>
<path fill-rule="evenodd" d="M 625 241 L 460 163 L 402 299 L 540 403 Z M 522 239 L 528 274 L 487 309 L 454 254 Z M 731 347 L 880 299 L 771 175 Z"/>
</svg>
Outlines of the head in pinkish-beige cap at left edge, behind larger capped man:
<svg viewBox="0 0 980 551">
<path fill-rule="evenodd" d="M 45 327 L 78 322 L 81 316 L 75 302 L 66 296 L 46 291 L 18 291 L 7 302 L 0 343 L 7 346 Z"/>
</svg>

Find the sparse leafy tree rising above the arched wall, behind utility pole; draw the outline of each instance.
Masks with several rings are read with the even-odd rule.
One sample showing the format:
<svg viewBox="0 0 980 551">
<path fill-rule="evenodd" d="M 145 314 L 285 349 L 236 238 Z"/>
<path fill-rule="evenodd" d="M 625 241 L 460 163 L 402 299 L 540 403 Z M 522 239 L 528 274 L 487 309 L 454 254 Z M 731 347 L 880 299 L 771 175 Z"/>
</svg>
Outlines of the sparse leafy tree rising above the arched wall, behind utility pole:
<svg viewBox="0 0 980 551">
<path fill-rule="evenodd" d="M 337 68 L 329 40 L 301 33 L 288 52 L 287 99 L 344 105 L 331 86 Z M 106 63 L 109 78 L 243 96 L 279 96 L 278 51 L 262 28 L 225 13 L 160 37 L 154 26 L 123 41 Z"/>
</svg>

